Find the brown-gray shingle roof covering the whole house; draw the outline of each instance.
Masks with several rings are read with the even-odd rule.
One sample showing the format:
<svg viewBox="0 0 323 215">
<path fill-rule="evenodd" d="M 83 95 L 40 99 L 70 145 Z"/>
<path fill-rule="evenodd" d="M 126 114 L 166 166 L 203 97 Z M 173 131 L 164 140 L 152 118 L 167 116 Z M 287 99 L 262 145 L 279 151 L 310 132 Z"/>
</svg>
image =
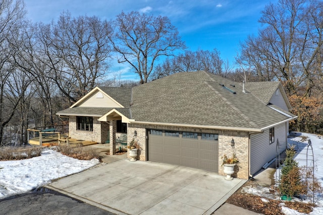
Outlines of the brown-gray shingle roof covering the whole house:
<svg viewBox="0 0 323 215">
<path fill-rule="evenodd" d="M 100 89 L 125 106 L 116 110 L 135 122 L 261 129 L 295 117 L 267 105 L 279 86 L 279 82 L 246 83 L 247 93 L 243 93 L 242 83 L 199 71 L 176 73 L 133 88 Z M 104 115 L 111 111 L 73 109 L 58 114 Z"/>
</svg>

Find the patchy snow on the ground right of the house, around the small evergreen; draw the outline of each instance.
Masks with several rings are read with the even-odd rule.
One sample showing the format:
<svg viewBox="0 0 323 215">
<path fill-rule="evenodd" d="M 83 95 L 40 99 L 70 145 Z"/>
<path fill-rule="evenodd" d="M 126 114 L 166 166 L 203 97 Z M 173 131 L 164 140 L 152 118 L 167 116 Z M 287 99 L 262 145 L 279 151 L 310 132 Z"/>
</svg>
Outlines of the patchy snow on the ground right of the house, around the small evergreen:
<svg viewBox="0 0 323 215">
<path fill-rule="evenodd" d="M 290 145 L 296 145 L 295 149 L 297 150 L 297 154 L 295 156 L 295 160 L 298 162 L 298 166 L 306 166 L 306 153 L 307 153 L 307 158 L 308 158 L 308 167 L 312 167 L 311 165 L 311 160 L 314 160 L 314 177 L 318 179 L 318 182 L 320 182 L 321 186 L 323 187 L 323 137 L 318 137 L 317 135 L 314 134 L 307 134 L 307 133 L 299 133 L 300 136 L 294 137 L 294 138 L 289 138 L 288 143 Z M 312 150 L 310 147 L 307 147 L 308 144 L 308 138 L 303 138 L 303 137 L 308 137 L 311 140 L 312 143 L 312 148 L 313 148 L 313 155 L 312 156 Z M 276 174 L 279 174 L 277 170 Z M 258 188 L 258 189 L 257 189 Z M 267 188 L 263 188 L 261 186 L 257 188 L 245 188 L 244 191 L 250 194 L 262 196 L 262 197 L 270 197 L 268 196 L 268 190 Z M 272 195 L 272 197 L 274 197 Z M 279 198 L 279 196 L 275 196 L 274 198 Z M 313 211 L 309 214 L 311 215 L 321 215 L 323 214 L 323 194 L 321 193 L 316 193 L 315 194 L 315 204 L 317 207 L 313 208 Z M 309 201 L 309 200 L 307 200 Z M 304 213 L 300 213 L 296 210 L 290 209 L 288 207 L 282 206 L 282 212 L 287 214 L 287 215 L 300 215 Z"/>
</svg>

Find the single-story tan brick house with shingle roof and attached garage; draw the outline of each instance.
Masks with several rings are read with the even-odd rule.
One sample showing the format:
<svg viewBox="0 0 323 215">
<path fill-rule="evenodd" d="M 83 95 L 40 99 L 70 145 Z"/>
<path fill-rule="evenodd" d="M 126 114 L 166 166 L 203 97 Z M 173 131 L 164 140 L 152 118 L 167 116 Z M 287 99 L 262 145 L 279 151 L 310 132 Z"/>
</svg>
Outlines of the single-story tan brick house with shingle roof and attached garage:
<svg viewBox="0 0 323 215">
<path fill-rule="evenodd" d="M 115 153 L 127 135 L 138 159 L 224 175 L 222 156 L 237 154 L 235 176 L 248 179 L 287 142 L 297 117 L 280 82 L 235 83 L 204 71 L 185 72 L 132 88 L 95 87 L 57 114 L 72 138 L 105 143 Z M 108 140 L 109 138 L 109 140 Z"/>
</svg>

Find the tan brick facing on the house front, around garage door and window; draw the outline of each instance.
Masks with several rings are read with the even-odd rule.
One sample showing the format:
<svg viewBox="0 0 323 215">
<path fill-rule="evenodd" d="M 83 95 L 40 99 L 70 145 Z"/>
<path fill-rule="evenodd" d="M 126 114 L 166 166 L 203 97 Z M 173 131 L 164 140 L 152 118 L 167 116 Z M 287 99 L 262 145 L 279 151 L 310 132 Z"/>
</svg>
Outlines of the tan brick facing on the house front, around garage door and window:
<svg viewBox="0 0 323 215">
<path fill-rule="evenodd" d="M 249 177 L 249 134 L 247 132 L 236 131 L 219 131 L 211 129 L 198 129 L 190 127 L 173 127 L 173 126 L 157 126 L 157 125 L 140 125 L 140 124 L 128 124 L 127 125 L 127 142 L 135 138 L 140 144 L 141 149 L 138 150 L 137 159 L 146 160 L 146 128 L 156 130 L 170 130 L 170 131 L 187 131 L 197 133 L 211 133 L 219 134 L 219 175 L 225 175 L 222 166 L 222 156 L 227 154 L 231 156 L 236 153 L 239 164 L 235 166 L 235 173 L 233 177 L 242 179 L 248 179 Z M 104 143 L 107 138 L 107 132 L 110 131 L 110 152 L 115 154 L 116 152 L 116 138 L 121 134 L 116 132 L 116 121 L 110 121 L 109 124 L 105 122 L 97 121 L 96 117 L 93 117 L 93 131 L 78 131 L 76 130 L 76 117 L 70 117 L 70 137 L 75 139 L 83 139 L 95 141 L 98 143 Z M 137 132 L 137 137 L 134 136 L 134 132 Z M 235 141 L 235 147 L 231 147 L 232 138 Z M 129 151 L 128 151 L 128 157 Z"/>
</svg>

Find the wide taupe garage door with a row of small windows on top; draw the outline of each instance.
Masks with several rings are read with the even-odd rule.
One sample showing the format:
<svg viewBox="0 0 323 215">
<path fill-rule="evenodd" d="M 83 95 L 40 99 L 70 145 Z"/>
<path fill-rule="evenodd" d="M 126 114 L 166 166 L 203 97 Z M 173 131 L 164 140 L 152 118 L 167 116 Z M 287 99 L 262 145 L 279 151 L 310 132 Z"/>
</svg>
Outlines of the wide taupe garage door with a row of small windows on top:
<svg viewBox="0 0 323 215">
<path fill-rule="evenodd" d="M 148 159 L 218 173 L 217 134 L 148 131 Z"/>
</svg>

